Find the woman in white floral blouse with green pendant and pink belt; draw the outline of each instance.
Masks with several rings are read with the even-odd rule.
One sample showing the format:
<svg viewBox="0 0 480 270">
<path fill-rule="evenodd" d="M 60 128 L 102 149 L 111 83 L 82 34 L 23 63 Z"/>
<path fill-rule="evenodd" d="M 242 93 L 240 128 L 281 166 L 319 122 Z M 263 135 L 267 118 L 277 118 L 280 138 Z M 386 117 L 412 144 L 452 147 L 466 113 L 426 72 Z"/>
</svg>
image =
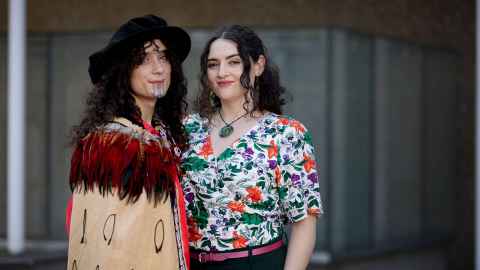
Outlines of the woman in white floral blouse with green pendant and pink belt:
<svg viewBox="0 0 480 270">
<path fill-rule="evenodd" d="M 305 126 L 281 115 L 285 89 L 262 41 L 222 28 L 200 80 L 199 113 L 184 123 L 192 269 L 305 269 L 322 213 L 314 151 Z"/>
</svg>

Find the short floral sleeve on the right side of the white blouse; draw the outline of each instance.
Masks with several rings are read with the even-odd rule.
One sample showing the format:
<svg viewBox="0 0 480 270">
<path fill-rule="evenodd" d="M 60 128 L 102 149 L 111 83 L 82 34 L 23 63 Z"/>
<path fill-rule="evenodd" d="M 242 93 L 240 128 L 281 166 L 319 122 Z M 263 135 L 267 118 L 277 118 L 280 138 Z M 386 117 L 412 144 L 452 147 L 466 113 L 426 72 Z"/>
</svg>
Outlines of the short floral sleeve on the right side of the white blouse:
<svg viewBox="0 0 480 270">
<path fill-rule="evenodd" d="M 285 221 L 318 217 L 323 210 L 310 133 L 294 119 L 280 118 L 278 124 L 278 192 Z"/>
</svg>

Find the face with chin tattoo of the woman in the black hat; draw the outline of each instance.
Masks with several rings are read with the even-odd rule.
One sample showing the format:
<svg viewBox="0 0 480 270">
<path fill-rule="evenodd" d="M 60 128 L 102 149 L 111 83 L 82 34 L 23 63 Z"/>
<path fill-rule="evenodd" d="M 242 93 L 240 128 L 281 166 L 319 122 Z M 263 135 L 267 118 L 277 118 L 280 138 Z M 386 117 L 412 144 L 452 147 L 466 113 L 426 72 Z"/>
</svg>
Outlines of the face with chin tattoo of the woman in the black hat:
<svg viewBox="0 0 480 270">
<path fill-rule="evenodd" d="M 172 67 L 161 40 L 145 43 L 145 58 L 135 67 L 130 84 L 135 99 L 155 100 L 165 96 L 170 86 Z"/>
</svg>

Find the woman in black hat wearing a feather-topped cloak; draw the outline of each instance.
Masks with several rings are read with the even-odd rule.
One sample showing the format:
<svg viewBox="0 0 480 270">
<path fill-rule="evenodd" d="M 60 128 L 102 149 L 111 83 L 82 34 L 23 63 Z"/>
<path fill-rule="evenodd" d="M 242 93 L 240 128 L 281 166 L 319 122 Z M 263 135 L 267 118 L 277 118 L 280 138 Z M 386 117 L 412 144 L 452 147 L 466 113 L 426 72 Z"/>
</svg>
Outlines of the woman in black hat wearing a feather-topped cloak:
<svg viewBox="0 0 480 270">
<path fill-rule="evenodd" d="M 89 58 L 93 89 L 73 128 L 68 269 L 187 269 L 178 162 L 187 140 L 190 37 L 154 15 Z"/>
</svg>

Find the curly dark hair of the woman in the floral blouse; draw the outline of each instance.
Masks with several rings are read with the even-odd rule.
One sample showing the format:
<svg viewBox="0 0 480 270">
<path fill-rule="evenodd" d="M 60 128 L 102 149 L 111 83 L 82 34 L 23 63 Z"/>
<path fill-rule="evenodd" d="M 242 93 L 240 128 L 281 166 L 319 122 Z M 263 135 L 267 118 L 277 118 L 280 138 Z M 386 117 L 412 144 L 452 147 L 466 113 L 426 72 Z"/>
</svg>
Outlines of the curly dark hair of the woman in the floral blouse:
<svg viewBox="0 0 480 270">
<path fill-rule="evenodd" d="M 271 62 L 267 55 L 267 49 L 263 45 L 262 40 L 250 28 L 242 25 L 230 25 L 220 28 L 211 37 L 200 57 L 200 91 L 195 101 L 195 109 L 202 117 L 211 118 L 212 114 L 220 108 L 220 99 L 213 96 L 212 89 L 207 77 L 208 54 L 210 53 L 211 44 L 217 39 L 227 39 L 235 42 L 238 54 L 243 63 L 243 72 L 240 76 L 241 85 L 247 89 L 245 92 L 244 108 L 248 111 L 249 99 L 247 96 L 252 95 L 253 109 L 250 111 L 270 111 L 281 114 L 282 106 L 285 105 L 283 94 L 285 87 L 280 84 L 278 68 Z M 265 57 L 265 67 L 263 73 L 255 78 L 252 86 L 250 82 L 251 61 L 257 62 L 259 57 Z"/>
</svg>

